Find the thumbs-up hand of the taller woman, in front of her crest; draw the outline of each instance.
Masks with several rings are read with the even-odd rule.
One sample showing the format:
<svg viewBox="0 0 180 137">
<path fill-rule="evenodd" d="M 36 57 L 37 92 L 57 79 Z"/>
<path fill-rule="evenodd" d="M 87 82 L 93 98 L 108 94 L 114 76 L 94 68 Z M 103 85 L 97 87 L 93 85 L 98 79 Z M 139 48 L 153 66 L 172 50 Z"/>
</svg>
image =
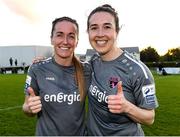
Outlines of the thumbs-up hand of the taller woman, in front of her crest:
<svg viewBox="0 0 180 137">
<path fill-rule="evenodd" d="M 127 112 L 127 105 L 129 101 L 126 100 L 123 94 L 122 81 L 117 84 L 117 94 L 108 96 L 108 108 L 111 113 Z"/>
</svg>

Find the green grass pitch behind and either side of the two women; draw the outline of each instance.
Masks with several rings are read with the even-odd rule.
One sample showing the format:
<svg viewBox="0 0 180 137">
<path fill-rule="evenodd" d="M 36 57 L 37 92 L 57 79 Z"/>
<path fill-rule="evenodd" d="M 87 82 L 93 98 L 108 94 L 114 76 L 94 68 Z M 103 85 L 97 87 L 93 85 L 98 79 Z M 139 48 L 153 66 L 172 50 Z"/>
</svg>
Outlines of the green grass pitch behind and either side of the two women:
<svg viewBox="0 0 180 137">
<path fill-rule="evenodd" d="M 0 75 L 0 136 L 31 136 L 36 117 L 22 112 L 25 75 Z M 146 136 L 180 135 L 180 75 L 154 74 L 159 107 L 152 126 L 142 126 Z"/>
</svg>

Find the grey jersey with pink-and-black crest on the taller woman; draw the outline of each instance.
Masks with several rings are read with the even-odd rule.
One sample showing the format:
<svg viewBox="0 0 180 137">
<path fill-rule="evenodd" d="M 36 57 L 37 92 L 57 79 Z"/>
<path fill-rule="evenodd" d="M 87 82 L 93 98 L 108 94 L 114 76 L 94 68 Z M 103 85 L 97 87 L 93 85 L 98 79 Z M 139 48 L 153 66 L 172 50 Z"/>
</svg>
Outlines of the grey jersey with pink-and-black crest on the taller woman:
<svg viewBox="0 0 180 137">
<path fill-rule="evenodd" d="M 88 135 L 139 136 L 144 135 L 140 124 L 125 113 L 111 113 L 108 95 L 117 94 L 117 83 L 122 81 L 123 94 L 140 108 L 158 106 L 155 84 L 150 70 L 127 52 L 113 61 L 102 61 L 97 55 L 91 60 L 92 81 L 89 87 Z"/>
</svg>

